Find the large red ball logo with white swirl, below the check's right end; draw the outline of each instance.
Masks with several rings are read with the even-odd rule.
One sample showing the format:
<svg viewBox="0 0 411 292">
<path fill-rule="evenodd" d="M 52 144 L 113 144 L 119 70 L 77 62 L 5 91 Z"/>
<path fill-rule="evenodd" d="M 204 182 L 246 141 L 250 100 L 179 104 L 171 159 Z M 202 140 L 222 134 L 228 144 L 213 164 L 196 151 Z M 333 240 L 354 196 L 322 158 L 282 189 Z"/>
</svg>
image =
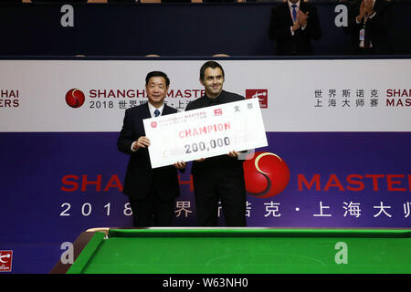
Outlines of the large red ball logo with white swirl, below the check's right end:
<svg viewBox="0 0 411 292">
<path fill-rule="evenodd" d="M 289 166 L 274 153 L 256 151 L 243 165 L 247 192 L 255 197 L 273 197 L 290 182 Z"/>
</svg>

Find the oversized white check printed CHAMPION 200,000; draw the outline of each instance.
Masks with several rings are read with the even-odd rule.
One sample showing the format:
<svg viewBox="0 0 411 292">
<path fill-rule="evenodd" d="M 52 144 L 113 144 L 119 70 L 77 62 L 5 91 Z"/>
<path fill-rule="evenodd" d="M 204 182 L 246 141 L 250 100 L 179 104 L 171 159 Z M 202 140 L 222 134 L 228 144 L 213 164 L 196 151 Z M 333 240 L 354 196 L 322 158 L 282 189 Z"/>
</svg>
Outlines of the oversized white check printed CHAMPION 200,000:
<svg viewBox="0 0 411 292">
<path fill-rule="evenodd" d="M 152 167 L 268 145 L 258 99 L 143 120 Z"/>
</svg>

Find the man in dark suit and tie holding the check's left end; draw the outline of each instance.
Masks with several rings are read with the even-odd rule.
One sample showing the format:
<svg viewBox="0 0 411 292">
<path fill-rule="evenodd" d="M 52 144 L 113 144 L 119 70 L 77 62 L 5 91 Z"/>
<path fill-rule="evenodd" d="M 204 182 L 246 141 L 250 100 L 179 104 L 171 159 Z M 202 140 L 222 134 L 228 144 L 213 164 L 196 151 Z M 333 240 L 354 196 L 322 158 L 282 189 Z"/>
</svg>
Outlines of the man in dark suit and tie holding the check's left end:
<svg viewBox="0 0 411 292">
<path fill-rule="evenodd" d="M 125 111 L 118 149 L 130 155 L 123 193 L 129 197 L 135 227 L 170 226 L 174 217 L 174 200 L 179 195 L 176 169 L 185 162 L 153 169 L 142 120 L 168 115 L 177 110 L 167 106 L 170 80 L 163 72 L 153 71 L 145 78 L 148 102 Z"/>
</svg>

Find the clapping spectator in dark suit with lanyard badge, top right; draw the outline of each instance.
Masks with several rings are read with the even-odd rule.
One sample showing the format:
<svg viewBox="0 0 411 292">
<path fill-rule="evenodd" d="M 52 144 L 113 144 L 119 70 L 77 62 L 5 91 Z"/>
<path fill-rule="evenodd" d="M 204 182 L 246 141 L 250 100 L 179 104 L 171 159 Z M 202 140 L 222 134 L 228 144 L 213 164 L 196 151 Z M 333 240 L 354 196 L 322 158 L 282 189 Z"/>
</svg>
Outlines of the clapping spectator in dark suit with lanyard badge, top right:
<svg viewBox="0 0 411 292">
<path fill-rule="evenodd" d="M 393 19 L 386 0 L 357 0 L 350 6 L 347 30 L 349 54 L 374 55 L 392 52 L 389 31 Z"/>
</svg>

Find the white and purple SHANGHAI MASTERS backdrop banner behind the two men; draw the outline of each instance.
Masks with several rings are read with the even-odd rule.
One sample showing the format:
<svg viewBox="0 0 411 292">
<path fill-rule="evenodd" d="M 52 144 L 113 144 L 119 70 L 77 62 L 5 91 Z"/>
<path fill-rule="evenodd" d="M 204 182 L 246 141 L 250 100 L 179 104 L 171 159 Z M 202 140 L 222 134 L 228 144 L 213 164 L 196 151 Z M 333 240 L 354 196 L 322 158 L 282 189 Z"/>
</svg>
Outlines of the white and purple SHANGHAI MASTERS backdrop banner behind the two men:
<svg viewBox="0 0 411 292">
<path fill-rule="evenodd" d="M 13 251 L 0 270 L 47 273 L 82 231 L 132 226 L 124 111 L 147 101 L 153 70 L 184 111 L 204 62 L 0 61 L 0 253 Z M 269 142 L 244 163 L 248 226 L 411 227 L 411 59 L 219 63 L 224 89 L 259 100 Z M 196 225 L 190 170 L 175 226 Z"/>
</svg>

